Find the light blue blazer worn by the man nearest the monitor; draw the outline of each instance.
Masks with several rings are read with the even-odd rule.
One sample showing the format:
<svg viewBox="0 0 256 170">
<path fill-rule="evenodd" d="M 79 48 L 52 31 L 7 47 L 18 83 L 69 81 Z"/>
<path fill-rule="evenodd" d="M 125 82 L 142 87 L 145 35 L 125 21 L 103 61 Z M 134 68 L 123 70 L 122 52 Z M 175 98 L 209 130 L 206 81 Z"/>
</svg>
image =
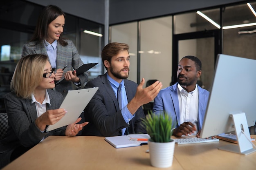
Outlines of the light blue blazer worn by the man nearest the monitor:
<svg viewBox="0 0 256 170">
<path fill-rule="evenodd" d="M 173 127 L 176 124 L 176 127 L 179 127 L 180 124 L 180 105 L 177 93 L 178 83 L 164 88 L 159 91 L 157 97 L 155 97 L 154 105 L 153 105 L 153 112 L 159 113 L 166 111 L 171 115 L 173 119 Z M 207 108 L 208 98 L 209 98 L 209 91 L 201 88 L 198 86 L 198 130 L 202 129 L 202 123 L 204 121 L 204 115 Z"/>
</svg>

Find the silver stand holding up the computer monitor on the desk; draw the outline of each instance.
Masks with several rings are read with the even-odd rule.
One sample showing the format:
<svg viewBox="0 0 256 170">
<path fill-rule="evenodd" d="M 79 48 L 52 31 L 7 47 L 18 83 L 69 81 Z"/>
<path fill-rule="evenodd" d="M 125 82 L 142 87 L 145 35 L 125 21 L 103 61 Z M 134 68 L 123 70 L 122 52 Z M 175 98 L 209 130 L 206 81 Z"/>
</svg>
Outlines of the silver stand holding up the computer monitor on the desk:
<svg viewBox="0 0 256 170">
<path fill-rule="evenodd" d="M 250 153 L 256 152 L 251 143 L 251 137 L 249 133 L 249 128 L 246 120 L 245 113 L 231 113 L 230 117 L 233 118 L 234 128 L 236 130 L 236 139 L 238 145 L 230 144 L 222 146 L 218 149 L 226 150 L 229 152 L 235 152 L 243 155 L 248 155 Z M 243 133 L 243 132 L 244 133 Z"/>
</svg>

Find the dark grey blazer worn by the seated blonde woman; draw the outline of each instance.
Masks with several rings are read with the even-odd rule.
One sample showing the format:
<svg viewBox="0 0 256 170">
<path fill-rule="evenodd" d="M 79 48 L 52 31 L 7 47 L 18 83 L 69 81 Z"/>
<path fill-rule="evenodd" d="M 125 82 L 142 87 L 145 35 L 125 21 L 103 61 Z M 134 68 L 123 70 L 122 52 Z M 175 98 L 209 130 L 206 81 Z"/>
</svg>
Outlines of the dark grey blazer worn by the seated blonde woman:
<svg viewBox="0 0 256 170">
<path fill-rule="evenodd" d="M 61 93 L 47 90 L 51 105 L 47 104 L 46 109 L 57 109 L 63 102 Z M 5 95 L 4 104 L 9 119 L 7 135 L 0 141 L 0 167 L 9 163 L 11 153 L 19 146 L 31 148 L 38 144 L 43 137 L 49 135 L 65 135 L 65 126 L 50 132 L 41 132 L 36 124 L 36 105 L 31 104 L 31 99 L 22 99 L 15 93 Z"/>
</svg>

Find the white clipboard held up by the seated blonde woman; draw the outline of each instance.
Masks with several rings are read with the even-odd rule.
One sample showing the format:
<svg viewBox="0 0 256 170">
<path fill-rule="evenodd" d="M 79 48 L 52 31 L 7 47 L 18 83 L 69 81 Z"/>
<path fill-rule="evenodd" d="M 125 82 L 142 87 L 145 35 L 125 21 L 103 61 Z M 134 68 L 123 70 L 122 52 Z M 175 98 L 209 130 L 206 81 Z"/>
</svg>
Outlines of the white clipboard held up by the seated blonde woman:
<svg viewBox="0 0 256 170">
<path fill-rule="evenodd" d="M 90 102 L 98 88 L 99 87 L 68 91 L 60 106 L 60 108 L 64 108 L 67 111 L 66 115 L 56 124 L 49 125 L 46 132 L 74 123 Z"/>
</svg>

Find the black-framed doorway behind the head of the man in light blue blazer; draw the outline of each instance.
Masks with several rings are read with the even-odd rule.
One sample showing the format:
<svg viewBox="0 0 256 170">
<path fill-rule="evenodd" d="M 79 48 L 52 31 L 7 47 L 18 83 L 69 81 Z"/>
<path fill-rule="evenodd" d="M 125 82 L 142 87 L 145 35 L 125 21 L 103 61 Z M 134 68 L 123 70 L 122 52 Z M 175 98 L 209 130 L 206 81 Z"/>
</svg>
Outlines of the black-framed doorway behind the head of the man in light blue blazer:
<svg viewBox="0 0 256 170">
<path fill-rule="evenodd" d="M 217 55 L 222 53 L 220 38 L 221 30 L 219 29 L 173 35 L 173 75 L 171 84 L 177 82 L 177 66 L 181 58 L 186 55 L 193 55 L 202 62 L 202 75 L 198 84 L 209 91 Z"/>
</svg>

